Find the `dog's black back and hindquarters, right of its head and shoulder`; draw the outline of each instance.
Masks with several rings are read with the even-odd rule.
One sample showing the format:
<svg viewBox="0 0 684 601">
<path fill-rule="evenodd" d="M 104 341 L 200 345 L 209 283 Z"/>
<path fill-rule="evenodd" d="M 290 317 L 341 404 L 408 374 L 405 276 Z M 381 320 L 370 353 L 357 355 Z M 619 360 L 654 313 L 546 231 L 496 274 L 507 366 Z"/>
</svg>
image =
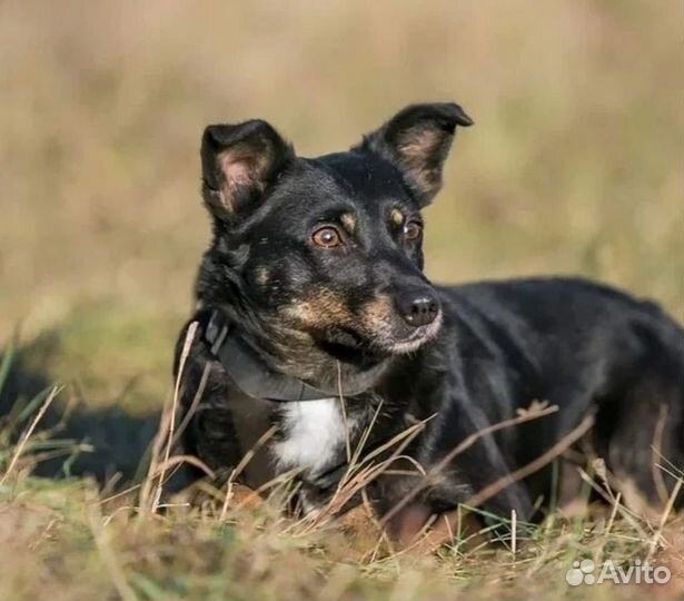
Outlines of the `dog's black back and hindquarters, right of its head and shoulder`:
<svg viewBox="0 0 684 601">
<path fill-rule="evenodd" d="M 579 278 L 443 290 L 457 356 L 477 382 L 473 402 L 488 420 L 509 418 L 531 400 L 559 407 L 538 424 L 498 435 L 513 467 L 539 456 L 591 412 L 595 426 L 585 450 L 605 457 L 616 479 L 633 481 L 647 501 L 662 501 L 658 483 L 672 477 L 654 460 L 684 465 L 684 329 L 674 319 L 650 300 Z M 549 476 L 547 470 L 529 480 L 535 494 L 549 494 Z"/>
</svg>

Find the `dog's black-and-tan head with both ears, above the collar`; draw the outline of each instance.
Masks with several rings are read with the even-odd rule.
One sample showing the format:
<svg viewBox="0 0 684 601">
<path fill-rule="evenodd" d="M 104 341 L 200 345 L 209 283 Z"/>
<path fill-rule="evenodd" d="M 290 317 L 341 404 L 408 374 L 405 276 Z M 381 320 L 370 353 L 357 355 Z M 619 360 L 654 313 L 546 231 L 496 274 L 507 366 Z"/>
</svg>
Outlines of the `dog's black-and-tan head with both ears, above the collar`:
<svg viewBox="0 0 684 601">
<path fill-rule="evenodd" d="M 350 150 L 314 159 L 261 120 L 207 127 L 215 238 L 200 299 L 299 364 L 418 348 L 442 322 L 420 209 L 442 186 L 456 127 L 469 125 L 454 104 L 410 106 Z"/>
</svg>

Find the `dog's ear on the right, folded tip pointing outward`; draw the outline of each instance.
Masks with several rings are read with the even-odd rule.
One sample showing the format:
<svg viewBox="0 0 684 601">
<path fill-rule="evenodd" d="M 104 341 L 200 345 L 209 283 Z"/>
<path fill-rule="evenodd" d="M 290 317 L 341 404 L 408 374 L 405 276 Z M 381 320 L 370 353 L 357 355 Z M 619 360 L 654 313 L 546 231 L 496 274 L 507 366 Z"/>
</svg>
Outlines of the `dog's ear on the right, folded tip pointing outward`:
<svg viewBox="0 0 684 601">
<path fill-rule="evenodd" d="M 473 122 L 454 102 L 412 105 L 366 136 L 355 149 L 370 150 L 395 164 L 424 207 L 442 188 L 442 169 L 456 126 Z"/>
</svg>

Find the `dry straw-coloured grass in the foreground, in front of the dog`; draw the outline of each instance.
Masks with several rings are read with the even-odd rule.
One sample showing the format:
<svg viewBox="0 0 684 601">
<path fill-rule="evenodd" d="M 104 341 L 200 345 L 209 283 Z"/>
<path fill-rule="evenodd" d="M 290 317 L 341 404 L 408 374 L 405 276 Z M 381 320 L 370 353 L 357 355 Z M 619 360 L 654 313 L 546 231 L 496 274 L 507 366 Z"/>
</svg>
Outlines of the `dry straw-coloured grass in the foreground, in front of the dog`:
<svg viewBox="0 0 684 601">
<path fill-rule="evenodd" d="M 8 372 L 8 356 L 0 374 Z M 60 439 L 59 426 L 37 427 L 58 393 L 52 388 L 22 404 L 0 430 L 7 449 L 0 454 L 1 599 L 38 599 L 46 590 L 53 599 L 71 601 L 437 600 L 454 594 L 636 599 L 655 593 L 676 599 L 684 585 L 682 516 L 666 511 L 650 523 L 634 515 L 601 480 L 599 470 L 598 476 L 583 475 L 589 486 L 607 494 L 606 506 L 585 503 L 573 511 L 554 510 L 539 525 L 518 523 L 522 534 L 513 540 L 495 534 L 497 524 L 509 524 L 507 520 L 464 506 L 453 540 L 432 554 L 394 549 L 363 508 L 340 518 L 334 501 L 331 511 L 314 521 L 288 518 L 287 481 L 264 502 L 254 502 L 254 494 L 238 485 L 217 490 L 204 484 L 191 503 L 185 493 L 160 504 L 163 474 L 171 471 L 163 462 L 175 432 L 167 418 L 172 402 L 160 421 L 156 459 L 137 484 L 121 486 L 116 476 L 98 484 L 70 476 L 68 469 L 57 479 L 37 477 L 31 474 L 47 459 L 70 455 L 63 467 L 78 461 L 78 453 L 92 451 Z M 518 421 L 548 411 L 553 407 L 541 406 Z M 343 487 L 340 497 L 365 477 L 363 463 L 354 469 L 345 484 L 349 491 Z M 117 487 L 121 490 L 113 492 Z M 474 514 L 489 525 L 474 528 L 466 520 Z M 579 559 L 597 565 L 609 559 L 626 569 L 646 558 L 671 570 L 670 584 L 657 591 L 635 584 L 578 590 L 565 584 L 567 570 Z"/>
</svg>

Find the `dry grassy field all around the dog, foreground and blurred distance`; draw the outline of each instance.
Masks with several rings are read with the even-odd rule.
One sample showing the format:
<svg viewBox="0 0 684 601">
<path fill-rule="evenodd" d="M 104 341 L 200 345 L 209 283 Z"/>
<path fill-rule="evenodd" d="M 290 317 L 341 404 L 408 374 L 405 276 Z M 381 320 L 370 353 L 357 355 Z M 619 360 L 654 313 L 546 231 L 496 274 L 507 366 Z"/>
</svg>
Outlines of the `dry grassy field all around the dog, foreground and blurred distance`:
<svg viewBox="0 0 684 601">
<path fill-rule="evenodd" d="M 0 599 L 681 595 L 682 516 L 619 503 L 552 513 L 515 552 L 464 535 L 418 558 L 276 500 L 112 496 L 145 491 L 172 396 L 205 125 L 262 117 L 314 156 L 454 99 L 476 125 L 426 214 L 434 280 L 583 274 L 682 322 L 683 38 L 672 0 L 2 2 Z M 670 584 L 565 582 L 576 559 L 646 556 Z"/>
</svg>

